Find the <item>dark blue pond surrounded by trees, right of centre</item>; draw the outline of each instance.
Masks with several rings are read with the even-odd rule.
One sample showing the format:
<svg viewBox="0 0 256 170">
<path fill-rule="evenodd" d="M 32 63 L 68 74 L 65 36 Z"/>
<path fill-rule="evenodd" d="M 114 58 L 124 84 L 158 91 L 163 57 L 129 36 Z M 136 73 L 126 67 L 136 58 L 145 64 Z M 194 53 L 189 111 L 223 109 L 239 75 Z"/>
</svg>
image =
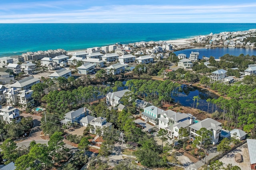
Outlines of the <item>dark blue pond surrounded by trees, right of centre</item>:
<svg viewBox="0 0 256 170">
<path fill-rule="evenodd" d="M 202 111 L 207 111 L 207 109 L 208 109 L 208 103 L 206 102 L 206 100 L 208 98 L 210 98 L 210 99 L 218 98 L 217 95 L 209 92 L 207 89 L 202 90 L 201 88 L 197 88 L 194 86 L 188 86 L 185 84 L 181 85 L 181 89 L 182 89 L 182 91 L 180 91 L 177 95 L 172 96 L 172 98 L 174 98 L 174 101 L 179 103 L 182 106 L 193 108 L 193 104 L 194 104 L 193 97 L 199 96 L 200 100 L 198 102 L 199 105 L 197 108 Z M 196 108 L 196 101 L 194 104 L 194 108 Z M 212 111 L 212 105 L 210 104 L 209 112 L 211 113 L 211 111 Z"/>
</svg>

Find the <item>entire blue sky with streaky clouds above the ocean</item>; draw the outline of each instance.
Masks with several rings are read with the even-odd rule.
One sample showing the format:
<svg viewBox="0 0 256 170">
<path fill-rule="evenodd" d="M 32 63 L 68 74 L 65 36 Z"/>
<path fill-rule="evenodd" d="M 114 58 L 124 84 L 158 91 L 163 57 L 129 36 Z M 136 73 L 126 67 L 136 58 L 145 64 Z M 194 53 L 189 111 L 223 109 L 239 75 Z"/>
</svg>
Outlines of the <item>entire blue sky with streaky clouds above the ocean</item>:
<svg viewBox="0 0 256 170">
<path fill-rule="evenodd" d="M 256 1 L 0 0 L 0 23 L 256 23 Z"/>
</svg>

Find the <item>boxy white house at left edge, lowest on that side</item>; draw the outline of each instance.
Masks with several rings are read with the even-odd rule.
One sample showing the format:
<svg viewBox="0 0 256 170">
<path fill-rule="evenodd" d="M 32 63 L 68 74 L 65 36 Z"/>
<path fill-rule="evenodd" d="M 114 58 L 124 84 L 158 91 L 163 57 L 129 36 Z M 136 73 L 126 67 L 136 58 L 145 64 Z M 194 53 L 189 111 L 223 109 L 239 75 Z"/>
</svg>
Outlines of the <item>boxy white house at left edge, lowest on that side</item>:
<svg viewBox="0 0 256 170">
<path fill-rule="evenodd" d="M 11 123 L 12 121 L 20 121 L 20 111 L 12 106 L 6 106 L 0 109 L 0 120 Z"/>
</svg>

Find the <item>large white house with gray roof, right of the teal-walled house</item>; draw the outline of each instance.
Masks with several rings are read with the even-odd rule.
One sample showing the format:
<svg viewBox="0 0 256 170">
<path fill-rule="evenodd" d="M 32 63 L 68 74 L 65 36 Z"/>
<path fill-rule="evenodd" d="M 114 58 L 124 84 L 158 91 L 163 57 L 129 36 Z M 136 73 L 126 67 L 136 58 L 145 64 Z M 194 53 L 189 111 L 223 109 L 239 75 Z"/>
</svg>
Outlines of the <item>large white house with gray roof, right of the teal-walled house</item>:
<svg viewBox="0 0 256 170">
<path fill-rule="evenodd" d="M 189 126 L 195 122 L 195 117 L 191 114 L 166 110 L 160 114 L 158 118 L 159 129 L 166 129 L 171 138 L 179 138 L 179 130 L 181 127 L 190 131 Z"/>
</svg>

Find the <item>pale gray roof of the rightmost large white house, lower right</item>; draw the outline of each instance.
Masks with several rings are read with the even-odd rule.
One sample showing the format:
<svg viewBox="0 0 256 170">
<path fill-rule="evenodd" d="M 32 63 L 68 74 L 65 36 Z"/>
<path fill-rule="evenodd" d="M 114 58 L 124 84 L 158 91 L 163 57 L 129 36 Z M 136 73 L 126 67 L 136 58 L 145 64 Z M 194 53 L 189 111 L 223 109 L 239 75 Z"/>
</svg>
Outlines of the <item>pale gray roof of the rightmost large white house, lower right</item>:
<svg viewBox="0 0 256 170">
<path fill-rule="evenodd" d="M 210 130 L 210 129 L 218 130 L 218 129 L 221 129 L 220 125 L 221 125 L 220 122 L 211 118 L 206 118 L 193 125 L 190 125 L 189 127 L 191 129 L 195 129 L 196 131 L 200 130 L 202 127 L 206 128 L 207 130 Z"/>
</svg>

